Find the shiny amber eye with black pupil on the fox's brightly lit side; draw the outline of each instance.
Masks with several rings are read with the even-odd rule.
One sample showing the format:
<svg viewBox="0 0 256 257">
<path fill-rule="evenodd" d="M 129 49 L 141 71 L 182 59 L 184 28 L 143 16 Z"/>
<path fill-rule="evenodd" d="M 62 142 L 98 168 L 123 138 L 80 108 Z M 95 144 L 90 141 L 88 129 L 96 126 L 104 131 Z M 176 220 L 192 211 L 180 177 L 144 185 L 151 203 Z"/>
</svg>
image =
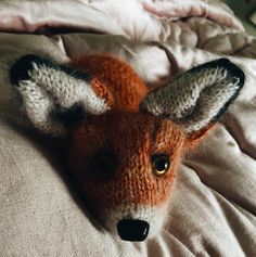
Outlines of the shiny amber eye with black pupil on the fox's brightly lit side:
<svg viewBox="0 0 256 257">
<path fill-rule="evenodd" d="M 170 166 L 170 159 L 167 154 L 153 155 L 151 157 L 151 163 L 152 163 L 152 171 L 155 176 L 164 175 Z"/>
</svg>

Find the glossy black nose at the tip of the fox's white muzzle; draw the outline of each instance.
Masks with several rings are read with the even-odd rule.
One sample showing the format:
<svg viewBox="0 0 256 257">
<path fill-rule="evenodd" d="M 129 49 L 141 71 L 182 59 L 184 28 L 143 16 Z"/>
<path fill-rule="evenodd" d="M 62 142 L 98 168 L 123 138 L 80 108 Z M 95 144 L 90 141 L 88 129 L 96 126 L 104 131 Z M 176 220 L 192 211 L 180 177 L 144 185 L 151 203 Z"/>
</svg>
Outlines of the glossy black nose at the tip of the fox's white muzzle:
<svg viewBox="0 0 256 257">
<path fill-rule="evenodd" d="M 150 224 L 140 219 L 121 219 L 117 223 L 117 232 L 121 240 L 144 241 L 149 234 Z"/>
</svg>

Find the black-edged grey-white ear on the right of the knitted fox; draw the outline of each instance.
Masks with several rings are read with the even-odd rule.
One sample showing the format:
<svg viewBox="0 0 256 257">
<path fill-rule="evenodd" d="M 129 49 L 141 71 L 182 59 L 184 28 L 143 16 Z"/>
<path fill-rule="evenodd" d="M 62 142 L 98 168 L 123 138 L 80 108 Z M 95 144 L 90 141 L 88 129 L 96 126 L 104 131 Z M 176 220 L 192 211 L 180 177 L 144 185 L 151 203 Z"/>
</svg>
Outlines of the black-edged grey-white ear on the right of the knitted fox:
<svg viewBox="0 0 256 257">
<path fill-rule="evenodd" d="M 179 124 L 187 133 L 217 121 L 244 85 L 244 73 L 227 59 L 200 65 L 149 93 L 141 108 Z"/>
</svg>

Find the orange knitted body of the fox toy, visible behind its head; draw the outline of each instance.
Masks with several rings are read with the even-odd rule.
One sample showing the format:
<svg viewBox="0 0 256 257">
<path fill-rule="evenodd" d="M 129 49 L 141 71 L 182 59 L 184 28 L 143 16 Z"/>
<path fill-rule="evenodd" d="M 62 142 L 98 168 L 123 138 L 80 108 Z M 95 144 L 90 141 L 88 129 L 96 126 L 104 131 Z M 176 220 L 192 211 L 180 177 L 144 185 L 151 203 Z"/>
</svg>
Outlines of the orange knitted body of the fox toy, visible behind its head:
<svg viewBox="0 0 256 257">
<path fill-rule="evenodd" d="M 139 112 L 140 102 L 149 90 L 128 64 L 111 55 L 95 54 L 79 56 L 72 65 L 91 75 L 92 87 L 112 110 Z"/>
</svg>

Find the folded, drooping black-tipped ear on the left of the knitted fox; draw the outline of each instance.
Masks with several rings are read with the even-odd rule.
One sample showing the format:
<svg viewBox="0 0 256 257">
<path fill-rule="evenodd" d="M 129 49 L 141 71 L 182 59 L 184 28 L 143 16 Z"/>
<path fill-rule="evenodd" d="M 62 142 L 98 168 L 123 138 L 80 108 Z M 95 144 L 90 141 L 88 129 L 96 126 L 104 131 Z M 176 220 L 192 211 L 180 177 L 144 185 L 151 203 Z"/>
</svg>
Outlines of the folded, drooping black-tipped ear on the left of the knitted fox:
<svg viewBox="0 0 256 257">
<path fill-rule="evenodd" d="M 36 128 L 51 136 L 64 136 L 68 123 L 85 113 L 108 110 L 97 94 L 90 75 L 34 54 L 17 60 L 10 69 L 10 80 L 22 97 L 26 115 Z"/>
</svg>

